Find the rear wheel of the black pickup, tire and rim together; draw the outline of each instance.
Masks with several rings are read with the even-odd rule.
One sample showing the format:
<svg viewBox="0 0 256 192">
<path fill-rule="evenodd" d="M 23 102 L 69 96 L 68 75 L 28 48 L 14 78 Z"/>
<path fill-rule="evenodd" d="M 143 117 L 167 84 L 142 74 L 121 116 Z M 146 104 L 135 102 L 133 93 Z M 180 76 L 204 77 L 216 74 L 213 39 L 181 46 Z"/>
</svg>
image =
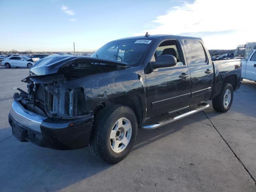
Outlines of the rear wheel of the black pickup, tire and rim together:
<svg viewBox="0 0 256 192">
<path fill-rule="evenodd" d="M 227 112 L 233 102 L 233 87 L 229 83 L 224 83 L 218 96 L 212 100 L 213 109 L 217 112 Z"/>
</svg>

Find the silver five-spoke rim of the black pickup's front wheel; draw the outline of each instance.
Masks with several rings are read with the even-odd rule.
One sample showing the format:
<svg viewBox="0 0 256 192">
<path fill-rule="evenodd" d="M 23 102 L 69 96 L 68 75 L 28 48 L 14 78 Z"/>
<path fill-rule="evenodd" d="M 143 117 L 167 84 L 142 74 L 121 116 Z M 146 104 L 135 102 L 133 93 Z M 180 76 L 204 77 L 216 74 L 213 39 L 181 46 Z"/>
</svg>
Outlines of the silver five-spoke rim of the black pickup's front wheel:
<svg viewBox="0 0 256 192">
<path fill-rule="evenodd" d="M 110 133 L 110 147 L 116 152 L 122 152 L 132 138 L 132 124 L 125 117 L 118 119 Z"/>
</svg>

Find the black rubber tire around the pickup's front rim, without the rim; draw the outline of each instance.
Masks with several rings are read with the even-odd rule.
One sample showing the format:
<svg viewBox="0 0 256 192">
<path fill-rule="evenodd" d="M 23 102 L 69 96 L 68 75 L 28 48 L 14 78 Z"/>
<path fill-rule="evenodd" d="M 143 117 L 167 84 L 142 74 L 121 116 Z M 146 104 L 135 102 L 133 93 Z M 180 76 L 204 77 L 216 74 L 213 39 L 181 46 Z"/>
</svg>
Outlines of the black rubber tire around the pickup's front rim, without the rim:
<svg viewBox="0 0 256 192">
<path fill-rule="evenodd" d="M 110 146 L 110 132 L 120 118 L 130 120 L 132 134 L 130 142 L 122 152 L 114 152 Z M 102 109 L 95 117 L 90 138 L 92 153 L 104 162 L 115 164 L 130 153 L 138 132 L 138 123 L 134 111 L 127 106 L 115 105 Z"/>
</svg>

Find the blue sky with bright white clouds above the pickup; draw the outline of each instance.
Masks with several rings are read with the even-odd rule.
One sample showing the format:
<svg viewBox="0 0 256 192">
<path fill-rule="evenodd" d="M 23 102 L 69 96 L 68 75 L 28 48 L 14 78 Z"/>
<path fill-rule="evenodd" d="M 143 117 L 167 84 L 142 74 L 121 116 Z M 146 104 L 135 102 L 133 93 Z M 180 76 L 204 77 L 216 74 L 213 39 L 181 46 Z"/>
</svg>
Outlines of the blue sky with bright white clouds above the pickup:
<svg viewBox="0 0 256 192">
<path fill-rule="evenodd" d="M 0 50 L 68 52 L 75 42 L 77 51 L 90 51 L 110 40 L 146 31 L 200 36 L 208 48 L 216 49 L 255 41 L 254 27 L 244 31 L 242 19 L 230 22 L 241 4 L 226 0 L 230 4 L 223 6 L 228 9 L 216 12 L 216 8 L 222 9 L 219 3 L 223 4 L 218 1 L 0 0 Z M 244 4 L 246 1 L 255 7 L 253 1 L 244 0 Z"/>
</svg>

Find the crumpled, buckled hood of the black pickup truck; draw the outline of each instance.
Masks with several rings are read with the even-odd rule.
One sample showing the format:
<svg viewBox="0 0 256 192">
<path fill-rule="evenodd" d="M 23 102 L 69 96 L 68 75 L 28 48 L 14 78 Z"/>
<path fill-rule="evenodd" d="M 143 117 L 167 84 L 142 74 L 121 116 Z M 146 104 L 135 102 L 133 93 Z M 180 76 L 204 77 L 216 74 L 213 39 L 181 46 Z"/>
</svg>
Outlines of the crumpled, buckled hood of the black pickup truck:
<svg viewBox="0 0 256 192">
<path fill-rule="evenodd" d="M 83 60 L 85 62 L 92 63 L 104 63 L 110 65 L 118 65 L 127 68 L 129 65 L 126 62 L 119 62 L 114 60 L 85 57 L 85 56 L 72 56 L 63 54 L 53 54 L 46 58 L 38 60 L 32 68 L 30 68 L 30 76 L 41 76 L 57 73 L 58 70 L 68 64 L 75 62 L 76 60 Z"/>
</svg>

